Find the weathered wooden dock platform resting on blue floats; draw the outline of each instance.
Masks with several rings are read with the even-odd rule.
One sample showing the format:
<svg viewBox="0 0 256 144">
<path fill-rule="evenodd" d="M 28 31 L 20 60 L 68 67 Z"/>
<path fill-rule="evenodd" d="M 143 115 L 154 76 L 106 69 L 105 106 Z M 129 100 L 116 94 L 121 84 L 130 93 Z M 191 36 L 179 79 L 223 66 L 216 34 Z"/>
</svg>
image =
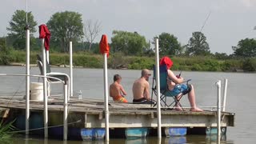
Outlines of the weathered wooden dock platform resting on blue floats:
<svg viewBox="0 0 256 144">
<path fill-rule="evenodd" d="M 17 118 L 24 114 L 26 101 L 23 98 L 0 97 L 2 118 Z M 31 113 L 42 114 L 43 102 L 30 101 Z M 131 103 L 109 102 L 109 127 L 116 128 L 157 128 L 157 108 L 150 105 Z M 63 124 L 63 99 L 50 97 L 48 101 L 49 126 Z M 217 112 L 203 111 L 191 112 L 190 110 L 178 111 L 162 108 L 162 127 L 201 127 L 210 128 L 217 126 Z M 43 122 L 43 119 L 42 119 Z M 76 128 L 104 128 L 104 102 L 100 100 L 70 98 L 68 102 L 69 127 Z M 234 126 L 234 113 L 222 112 L 222 127 Z"/>
</svg>

